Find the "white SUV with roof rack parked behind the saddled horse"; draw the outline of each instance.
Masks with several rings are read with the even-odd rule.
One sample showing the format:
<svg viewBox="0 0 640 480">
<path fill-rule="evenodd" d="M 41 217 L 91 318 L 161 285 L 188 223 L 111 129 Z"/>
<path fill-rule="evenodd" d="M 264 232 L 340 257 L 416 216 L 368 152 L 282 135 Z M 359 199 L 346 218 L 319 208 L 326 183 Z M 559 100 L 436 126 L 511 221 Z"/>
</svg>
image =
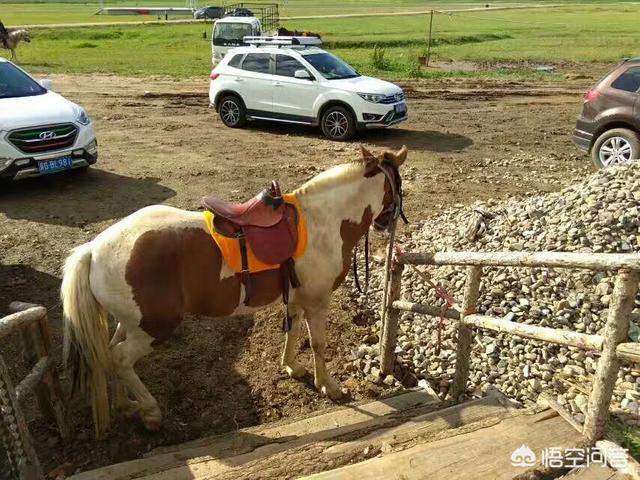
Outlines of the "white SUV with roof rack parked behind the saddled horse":
<svg viewBox="0 0 640 480">
<path fill-rule="evenodd" d="M 228 127 L 253 119 L 319 125 L 326 137 L 348 140 L 359 129 L 407 119 L 400 87 L 360 75 L 308 45 L 319 43 L 316 38 L 259 37 L 247 43 L 254 45 L 229 51 L 211 72 L 209 100 Z"/>
</svg>

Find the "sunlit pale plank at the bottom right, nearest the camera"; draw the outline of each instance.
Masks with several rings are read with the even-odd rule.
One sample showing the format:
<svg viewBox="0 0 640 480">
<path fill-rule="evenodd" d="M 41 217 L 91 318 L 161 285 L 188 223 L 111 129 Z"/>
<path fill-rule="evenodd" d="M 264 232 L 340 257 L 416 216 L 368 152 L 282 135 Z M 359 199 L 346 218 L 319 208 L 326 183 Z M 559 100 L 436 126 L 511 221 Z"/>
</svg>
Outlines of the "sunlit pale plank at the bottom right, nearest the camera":
<svg viewBox="0 0 640 480">
<path fill-rule="evenodd" d="M 580 434 L 559 416 L 548 418 L 548 412 L 531 416 L 518 415 L 505 418 L 488 428 L 416 445 L 404 451 L 385 454 L 306 478 L 511 480 L 526 470 L 511 465 L 511 453 L 522 444 L 533 450 L 539 459 L 545 447 L 568 448 L 577 445 L 581 439 Z"/>
</svg>

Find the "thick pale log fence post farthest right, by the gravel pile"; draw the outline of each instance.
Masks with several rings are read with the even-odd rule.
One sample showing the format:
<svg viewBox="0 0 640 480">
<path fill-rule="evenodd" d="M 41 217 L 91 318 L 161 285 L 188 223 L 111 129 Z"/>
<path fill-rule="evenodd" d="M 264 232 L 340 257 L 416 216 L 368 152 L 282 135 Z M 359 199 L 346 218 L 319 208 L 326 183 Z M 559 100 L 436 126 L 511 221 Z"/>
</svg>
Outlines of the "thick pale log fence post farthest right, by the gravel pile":
<svg viewBox="0 0 640 480">
<path fill-rule="evenodd" d="M 620 369 L 616 347 L 624 342 L 629 334 L 629 319 L 638 293 L 639 281 L 640 273 L 637 271 L 621 270 L 616 277 L 604 329 L 602 355 L 596 368 L 584 423 L 583 434 L 592 443 L 602 437 L 606 428 L 611 395 Z"/>
</svg>

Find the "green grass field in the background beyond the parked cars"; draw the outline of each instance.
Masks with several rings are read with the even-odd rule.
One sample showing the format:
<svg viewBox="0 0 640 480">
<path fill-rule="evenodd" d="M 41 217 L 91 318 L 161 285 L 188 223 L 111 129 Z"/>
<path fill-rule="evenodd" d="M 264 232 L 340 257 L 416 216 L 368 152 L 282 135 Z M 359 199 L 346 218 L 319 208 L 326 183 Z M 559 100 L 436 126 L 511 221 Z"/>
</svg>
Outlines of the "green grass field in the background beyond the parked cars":
<svg viewBox="0 0 640 480">
<path fill-rule="evenodd" d="M 156 4 L 168 1 L 157 0 Z M 180 3 L 180 0 L 174 0 L 173 4 Z M 354 1 L 341 3 L 345 8 L 355 4 Z M 383 8 L 390 2 L 363 0 L 360 3 Z M 419 2 L 404 3 L 416 6 Z M 335 12 L 337 4 L 330 0 L 322 8 L 333 6 Z M 287 8 L 295 11 L 305 5 L 312 10 L 310 2 L 303 0 L 291 0 Z M 3 18 L 7 7 L 12 5 L 0 7 Z M 568 5 L 547 10 L 436 15 L 432 53 L 436 60 L 512 62 L 524 66 L 527 62 L 610 63 L 624 56 L 640 55 L 637 18 L 640 18 L 640 5 L 634 4 Z M 53 15 L 48 21 L 60 19 Z M 304 19 L 284 24 L 289 28 L 320 32 L 327 49 L 365 74 L 389 79 L 479 75 L 474 72 L 426 72 L 417 68 L 417 57 L 424 54 L 426 47 L 425 15 Z M 210 71 L 211 25 L 208 24 L 36 29 L 32 33 L 33 42 L 21 47 L 20 59 L 27 69 L 41 74 L 104 72 L 204 77 Z M 205 33 L 206 40 L 203 39 Z M 374 46 L 384 49 L 384 62 L 372 60 Z M 544 74 L 515 69 L 491 70 L 480 75 L 529 77 Z"/>
</svg>

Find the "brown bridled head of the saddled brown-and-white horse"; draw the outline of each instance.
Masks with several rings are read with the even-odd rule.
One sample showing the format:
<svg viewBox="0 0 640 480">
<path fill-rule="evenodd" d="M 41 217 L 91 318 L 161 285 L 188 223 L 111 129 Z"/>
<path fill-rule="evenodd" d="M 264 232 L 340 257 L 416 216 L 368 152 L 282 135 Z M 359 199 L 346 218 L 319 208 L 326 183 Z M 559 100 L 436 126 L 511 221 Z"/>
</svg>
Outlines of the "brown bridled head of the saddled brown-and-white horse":
<svg viewBox="0 0 640 480">
<path fill-rule="evenodd" d="M 360 149 L 366 163 L 365 176 L 385 176 L 382 211 L 374 218 L 373 227 L 376 230 L 388 230 L 402 215 L 402 177 L 399 168 L 407 158 L 407 147 L 403 146 L 397 152 L 387 150 L 380 156 L 373 155 L 362 146 Z"/>
</svg>

